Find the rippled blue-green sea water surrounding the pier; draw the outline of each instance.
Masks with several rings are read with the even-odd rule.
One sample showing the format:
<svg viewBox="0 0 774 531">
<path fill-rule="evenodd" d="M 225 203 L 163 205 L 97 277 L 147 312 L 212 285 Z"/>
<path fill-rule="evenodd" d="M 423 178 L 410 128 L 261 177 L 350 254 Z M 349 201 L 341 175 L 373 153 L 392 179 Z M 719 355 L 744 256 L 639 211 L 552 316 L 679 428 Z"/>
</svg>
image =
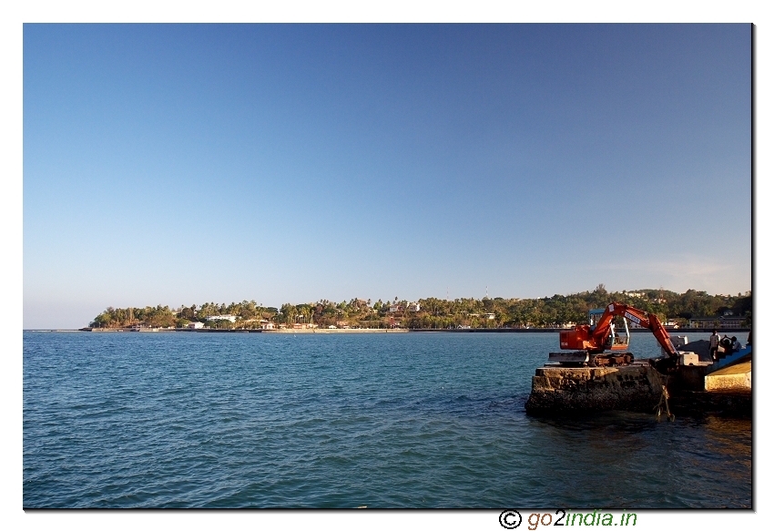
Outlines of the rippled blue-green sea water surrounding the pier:
<svg viewBox="0 0 774 531">
<path fill-rule="evenodd" d="M 557 343 L 25 332 L 24 505 L 751 506 L 749 420 L 524 414 Z"/>
</svg>

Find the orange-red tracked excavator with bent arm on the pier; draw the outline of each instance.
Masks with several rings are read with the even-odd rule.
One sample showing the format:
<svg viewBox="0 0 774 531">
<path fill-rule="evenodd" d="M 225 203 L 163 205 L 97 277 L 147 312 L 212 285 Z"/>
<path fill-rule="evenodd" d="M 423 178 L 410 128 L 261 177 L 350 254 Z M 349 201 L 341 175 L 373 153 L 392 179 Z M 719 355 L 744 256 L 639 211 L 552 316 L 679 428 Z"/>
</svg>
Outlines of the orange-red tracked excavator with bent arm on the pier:
<svg viewBox="0 0 774 531">
<path fill-rule="evenodd" d="M 618 322 L 623 321 L 625 335 L 616 331 L 616 319 Z M 588 324 L 579 324 L 574 330 L 559 332 L 559 347 L 562 350 L 576 352 L 573 354 L 552 352 L 549 354 L 549 359 L 560 363 L 581 363 L 586 366 L 632 363 L 634 356 L 631 352 L 625 352 L 629 346 L 630 337 L 627 322 L 634 322 L 642 328 L 647 328 L 656 336 L 666 356 L 650 360 L 659 373 L 672 373 L 677 370 L 680 353 L 672 344 L 669 332 L 658 321 L 657 316 L 620 302 L 611 302 L 604 309 L 589 311 Z"/>
</svg>

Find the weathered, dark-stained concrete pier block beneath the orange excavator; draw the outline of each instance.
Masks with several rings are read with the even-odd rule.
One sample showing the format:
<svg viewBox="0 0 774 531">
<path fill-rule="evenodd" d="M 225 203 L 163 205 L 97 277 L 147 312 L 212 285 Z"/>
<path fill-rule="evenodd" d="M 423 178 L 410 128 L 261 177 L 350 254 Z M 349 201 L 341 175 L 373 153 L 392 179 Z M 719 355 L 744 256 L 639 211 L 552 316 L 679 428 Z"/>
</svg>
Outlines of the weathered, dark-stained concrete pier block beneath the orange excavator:
<svg viewBox="0 0 774 531">
<path fill-rule="evenodd" d="M 546 365 L 535 370 L 529 414 L 604 410 L 652 413 L 663 391 L 662 377 L 647 362 L 621 367 Z"/>
</svg>

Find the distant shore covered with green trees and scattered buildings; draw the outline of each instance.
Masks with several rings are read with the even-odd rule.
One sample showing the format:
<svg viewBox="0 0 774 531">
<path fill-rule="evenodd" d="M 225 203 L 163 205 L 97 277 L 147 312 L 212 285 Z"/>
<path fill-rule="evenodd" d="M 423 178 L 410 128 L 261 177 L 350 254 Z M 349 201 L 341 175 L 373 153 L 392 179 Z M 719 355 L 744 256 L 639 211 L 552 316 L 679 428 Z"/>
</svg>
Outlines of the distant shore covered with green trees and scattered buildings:
<svg viewBox="0 0 774 531">
<path fill-rule="evenodd" d="M 667 290 L 593 291 L 554 295 L 542 299 L 420 299 L 372 302 L 352 299 L 285 303 L 278 308 L 256 301 L 217 304 L 205 302 L 170 309 L 160 304 L 145 308 L 112 308 L 101 312 L 90 328 L 209 328 L 221 330 L 281 329 L 478 329 L 564 328 L 586 322 L 587 311 L 610 301 L 656 313 L 670 327 L 749 327 L 752 292 L 709 295 L 707 291 Z"/>
</svg>

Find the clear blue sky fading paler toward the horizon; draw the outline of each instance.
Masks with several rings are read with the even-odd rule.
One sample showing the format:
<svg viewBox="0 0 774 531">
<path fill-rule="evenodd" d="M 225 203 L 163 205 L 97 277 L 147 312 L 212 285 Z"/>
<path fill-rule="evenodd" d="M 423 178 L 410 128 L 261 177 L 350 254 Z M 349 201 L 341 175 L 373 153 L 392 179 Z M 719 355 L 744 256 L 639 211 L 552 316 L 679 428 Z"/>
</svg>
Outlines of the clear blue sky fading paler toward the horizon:
<svg viewBox="0 0 774 531">
<path fill-rule="evenodd" d="M 751 29 L 24 26 L 24 327 L 752 287 Z"/>
</svg>

